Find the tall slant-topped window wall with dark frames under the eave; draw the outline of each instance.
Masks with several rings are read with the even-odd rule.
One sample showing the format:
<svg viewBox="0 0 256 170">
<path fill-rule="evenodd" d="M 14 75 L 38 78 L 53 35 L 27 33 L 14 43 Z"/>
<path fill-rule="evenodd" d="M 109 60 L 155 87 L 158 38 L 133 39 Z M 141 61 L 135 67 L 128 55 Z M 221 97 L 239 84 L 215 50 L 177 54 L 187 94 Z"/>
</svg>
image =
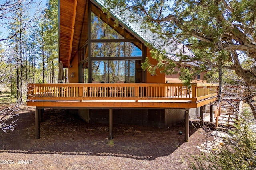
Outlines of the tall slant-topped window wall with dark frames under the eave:
<svg viewBox="0 0 256 170">
<path fill-rule="evenodd" d="M 121 25 L 114 26 L 96 6 L 88 14 L 88 41 L 78 51 L 79 81 L 142 82 L 143 43 Z"/>
</svg>

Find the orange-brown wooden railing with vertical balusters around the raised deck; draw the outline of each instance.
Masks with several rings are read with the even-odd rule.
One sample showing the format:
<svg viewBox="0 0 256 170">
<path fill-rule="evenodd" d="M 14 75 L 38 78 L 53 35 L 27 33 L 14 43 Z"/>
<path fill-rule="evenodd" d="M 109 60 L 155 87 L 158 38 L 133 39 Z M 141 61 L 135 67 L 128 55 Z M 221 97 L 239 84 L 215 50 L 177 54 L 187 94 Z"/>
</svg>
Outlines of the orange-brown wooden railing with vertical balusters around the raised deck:
<svg viewBox="0 0 256 170">
<path fill-rule="evenodd" d="M 28 100 L 192 100 L 218 92 L 217 84 L 180 83 L 58 83 L 28 84 Z"/>
</svg>

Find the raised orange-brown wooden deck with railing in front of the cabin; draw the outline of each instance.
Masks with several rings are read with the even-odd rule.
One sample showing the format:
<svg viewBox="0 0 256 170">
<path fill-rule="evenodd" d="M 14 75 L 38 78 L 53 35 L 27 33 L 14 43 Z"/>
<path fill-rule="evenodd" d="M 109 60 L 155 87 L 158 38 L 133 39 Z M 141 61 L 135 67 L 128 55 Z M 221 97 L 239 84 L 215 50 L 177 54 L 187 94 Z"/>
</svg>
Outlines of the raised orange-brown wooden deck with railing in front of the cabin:
<svg viewBox="0 0 256 170">
<path fill-rule="evenodd" d="M 42 108 L 197 108 L 216 100 L 218 85 L 177 83 L 28 84 L 27 106 Z"/>
</svg>

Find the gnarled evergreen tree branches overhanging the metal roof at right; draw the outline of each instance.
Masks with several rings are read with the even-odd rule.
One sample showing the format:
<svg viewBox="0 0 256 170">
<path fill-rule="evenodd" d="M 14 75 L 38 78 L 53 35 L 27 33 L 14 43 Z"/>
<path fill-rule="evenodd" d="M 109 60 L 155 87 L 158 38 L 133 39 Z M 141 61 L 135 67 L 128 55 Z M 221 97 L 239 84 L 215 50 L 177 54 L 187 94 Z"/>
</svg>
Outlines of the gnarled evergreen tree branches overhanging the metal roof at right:
<svg viewBox="0 0 256 170">
<path fill-rule="evenodd" d="M 199 67 L 191 68 L 189 74 L 226 68 L 236 72 L 249 86 L 256 86 L 256 73 L 252 72 L 256 59 L 255 8 L 255 0 L 106 0 L 104 5 L 105 12 L 112 9 L 117 13 L 132 11 L 132 21 L 141 21 L 142 29 L 150 29 L 158 35 L 154 36 L 156 43 L 172 44 L 173 47 L 169 45 L 168 48 L 173 51 L 181 49 L 176 54 L 160 48 L 157 50 L 162 55 L 152 53 L 158 60 L 155 67 L 163 68 L 162 72 L 173 74 L 175 65 L 194 62 Z M 184 55 L 182 48 L 178 48 L 180 43 L 194 55 Z M 154 43 L 150 47 L 155 47 Z M 251 59 L 250 68 L 254 69 L 244 68 L 242 58 Z M 144 69 L 154 74 L 151 64 L 146 62 Z M 184 74 L 188 72 L 184 71 Z M 182 80 L 189 82 L 191 76 Z"/>
</svg>

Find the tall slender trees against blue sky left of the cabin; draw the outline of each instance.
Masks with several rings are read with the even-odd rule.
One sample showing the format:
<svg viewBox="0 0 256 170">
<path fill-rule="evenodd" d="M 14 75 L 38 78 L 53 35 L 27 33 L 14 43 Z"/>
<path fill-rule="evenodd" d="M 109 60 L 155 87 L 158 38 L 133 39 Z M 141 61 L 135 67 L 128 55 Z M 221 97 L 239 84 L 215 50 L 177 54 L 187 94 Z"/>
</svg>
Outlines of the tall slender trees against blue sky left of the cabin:
<svg viewBox="0 0 256 170">
<path fill-rule="evenodd" d="M 16 102 L 0 109 L 0 129 L 14 130 L 13 119 L 27 95 L 28 83 L 57 82 L 58 1 L 0 1 L 0 92 L 10 90 Z M 9 123 L 8 123 L 9 122 Z"/>
</svg>

